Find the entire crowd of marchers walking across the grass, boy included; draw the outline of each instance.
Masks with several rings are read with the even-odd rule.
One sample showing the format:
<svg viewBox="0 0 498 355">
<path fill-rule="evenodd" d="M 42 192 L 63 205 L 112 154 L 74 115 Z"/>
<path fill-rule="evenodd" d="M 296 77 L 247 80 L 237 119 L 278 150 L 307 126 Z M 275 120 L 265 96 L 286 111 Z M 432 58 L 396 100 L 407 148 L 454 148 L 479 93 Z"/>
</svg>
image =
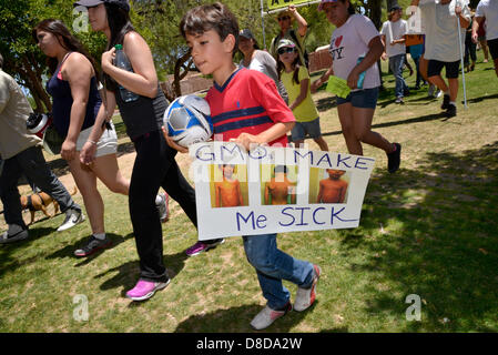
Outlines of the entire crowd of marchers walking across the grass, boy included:
<svg viewBox="0 0 498 355">
<path fill-rule="evenodd" d="M 129 197 L 140 275 L 126 297 L 144 301 L 170 283 L 163 262 L 162 226 L 169 217 L 169 199 L 175 200 L 197 226 L 195 191 L 175 161 L 177 151 L 186 149 L 175 144 L 163 128 L 169 102 L 159 85 L 151 49 L 130 20 L 129 1 L 80 0 L 74 6 L 87 8 L 92 30 L 106 38 L 100 65 L 62 21 L 47 19 L 32 29 L 34 43 L 48 59 L 47 91 L 53 101 L 53 125 L 63 139 L 61 158 L 68 162 L 82 194 L 92 231 L 74 255 L 85 257 L 112 245 L 105 234 L 104 203 L 96 187 L 99 179 L 112 192 Z M 189 10 L 179 30 L 196 68 L 213 78 L 205 99 L 211 108 L 214 134 L 223 141 L 235 141 L 246 150 L 253 144 L 299 148 L 311 138 L 319 150 L 328 151 L 312 93 L 334 75 L 350 89 L 347 97 L 336 99 L 348 152 L 363 155 L 364 144 L 378 148 L 386 154 L 387 171 L 395 173 L 402 163 L 402 144 L 372 130 L 383 88 L 379 60 L 388 60 L 395 78 L 394 101 L 404 104 L 410 94 L 404 79 L 409 53 L 417 74 L 411 90 L 428 83 L 429 95 L 443 95 L 440 108 L 448 118 L 457 114 L 460 57 L 464 57 L 458 44 L 466 49 L 468 72 L 476 67 L 477 43 L 486 61 L 489 48 L 498 75 L 496 1 L 481 0 L 475 11 L 465 1 L 460 4 L 455 0 L 413 0 L 411 6 L 420 10 L 423 32 L 417 33 L 421 38 L 419 43 L 407 45 L 408 28 L 399 6 L 389 9 L 388 20 L 378 31 L 349 0 L 322 0 L 317 10 L 335 27 L 329 47 L 333 61 L 313 82 L 305 45 L 308 23 L 294 6 L 278 13 L 281 30 L 268 51 L 260 49 L 251 29 L 238 28 L 235 16 L 221 2 Z M 119 50 L 124 51 L 132 71 L 114 65 Z M 238 64 L 233 60 L 236 52 L 242 54 Z M 41 140 L 28 131 L 26 122 L 32 109 L 12 75 L 2 70 L 2 63 L 0 55 L 0 197 L 8 225 L 0 243 L 13 243 L 29 237 L 18 191 L 21 175 L 60 204 L 65 219 L 58 231 L 73 227 L 85 216 L 48 168 Z M 231 100 L 233 97 L 241 98 L 236 105 Z M 116 106 L 136 151 L 130 180 L 122 176 L 116 160 L 118 136 L 111 121 Z M 232 120 L 227 122 L 226 116 Z M 223 166 L 223 172 L 230 181 L 233 168 Z M 185 252 L 194 256 L 223 242 L 223 239 L 197 241 Z M 253 328 L 266 328 L 289 311 L 303 312 L 314 304 L 321 266 L 280 250 L 277 234 L 243 236 L 243 245 L 267 301 L 251 321 Z M 283 285 L 284 280 L 297 286 L 294 302 Z"/>
</svg>

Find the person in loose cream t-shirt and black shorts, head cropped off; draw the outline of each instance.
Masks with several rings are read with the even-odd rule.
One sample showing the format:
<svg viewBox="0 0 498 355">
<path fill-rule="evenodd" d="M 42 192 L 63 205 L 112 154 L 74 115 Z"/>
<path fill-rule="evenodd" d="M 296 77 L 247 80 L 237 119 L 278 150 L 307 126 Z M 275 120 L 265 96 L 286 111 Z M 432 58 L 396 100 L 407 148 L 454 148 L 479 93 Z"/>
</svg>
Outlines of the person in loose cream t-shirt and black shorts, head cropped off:
<svg viewBox="0 0 498 355">
<path fill-rule="evenodd" d="M 444 93 L 441 110 L 448 118 L 457 114 L 458 72 L 460 65 L 460 40 L 465 48 L 465 31 L 470 24 L 470 10 L 467 0 L 413 0 L 419 6 L 426 30 L 426 48 L 424 58 L 429 61 L 427 77 L 430 83 Z M 460 33 L 458 34 L 458 22 Z M 441 77 L 446 68 L 448 84 Z"/>
</svg>

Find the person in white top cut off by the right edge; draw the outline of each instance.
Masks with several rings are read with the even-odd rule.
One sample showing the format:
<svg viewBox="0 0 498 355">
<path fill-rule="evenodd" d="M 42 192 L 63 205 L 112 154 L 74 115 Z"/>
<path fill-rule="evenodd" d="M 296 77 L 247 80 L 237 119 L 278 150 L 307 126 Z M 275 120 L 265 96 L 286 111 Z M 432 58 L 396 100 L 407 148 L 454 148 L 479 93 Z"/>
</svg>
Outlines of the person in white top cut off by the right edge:
<svg viewBox="0 0 498 355">
<path fill-rule="evenodd" d="M 477 43 L 477 30 L 482 26 L 486 19 L 486 40 L 489 52 L 495 62 L 495 72 L 498 77 L 498 1 L 481 0 L 476 9 L 476 16 L 472 23 L 472 41 Z"/>
</svg>

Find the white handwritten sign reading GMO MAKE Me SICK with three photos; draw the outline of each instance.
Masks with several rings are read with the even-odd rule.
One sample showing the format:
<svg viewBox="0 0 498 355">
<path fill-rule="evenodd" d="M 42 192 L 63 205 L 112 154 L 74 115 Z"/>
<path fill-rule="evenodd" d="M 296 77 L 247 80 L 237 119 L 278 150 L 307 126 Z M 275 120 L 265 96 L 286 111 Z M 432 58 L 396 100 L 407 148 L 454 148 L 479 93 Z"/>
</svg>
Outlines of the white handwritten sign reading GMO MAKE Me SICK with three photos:
<svg viewBox="0 0 498 355">
<path fill-rule="evenodd" d="M 199 240 L 359 225 L 375 160 L 344 153 L 197 143 Z M 192 176 L 191 175 L 191 176 Z"/>
</svg>

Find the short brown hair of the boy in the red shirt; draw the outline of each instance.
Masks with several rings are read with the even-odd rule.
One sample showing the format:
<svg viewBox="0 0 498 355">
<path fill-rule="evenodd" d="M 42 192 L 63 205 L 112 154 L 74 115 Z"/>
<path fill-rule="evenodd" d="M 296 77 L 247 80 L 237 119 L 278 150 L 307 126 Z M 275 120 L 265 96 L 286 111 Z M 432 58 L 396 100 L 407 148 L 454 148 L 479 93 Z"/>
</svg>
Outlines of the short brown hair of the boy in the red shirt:
<svg viewBox="0 0 498 355">
<path fill-rule="evenodd" d="M 180 33 L 183 38 L 186 34 L 203 34 L 214 30 L 222 41 L 228 34 L 235 38 L 235 45 L 232 55 L 238 50 L 238 22 L 232 11 L 221 2 L 203 4 L 189 10 L 180 22 Z"/>
</svg>

